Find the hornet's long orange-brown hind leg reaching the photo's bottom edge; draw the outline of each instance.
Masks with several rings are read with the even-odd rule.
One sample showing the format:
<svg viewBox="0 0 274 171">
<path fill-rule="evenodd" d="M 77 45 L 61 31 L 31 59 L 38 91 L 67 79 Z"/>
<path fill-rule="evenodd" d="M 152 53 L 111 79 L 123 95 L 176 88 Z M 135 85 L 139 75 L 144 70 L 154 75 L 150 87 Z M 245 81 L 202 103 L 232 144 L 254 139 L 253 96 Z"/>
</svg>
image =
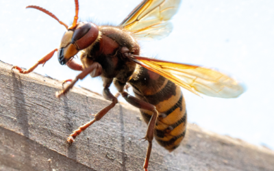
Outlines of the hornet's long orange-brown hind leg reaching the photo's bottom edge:
<svg viewBox="0 0 274 171">
<path fill-rule="evenodd" d="M 143 166 L 144 170 L 147 171 L 147 167 L 149 166 L 149 157 L 150 157 L 151 149 L 152 149 L 152 140 L 153 140 L 155 122 L 158 118 L 158 111 L 156 110 L 155 106 L 153 106 L 150 103 L 147 103 L 145 101 L 142 101 L 134 96 L 130 96 L 127 92 L 122 92 L 121 94 L 122 94 L 123 98 L 125 98 L 125 100 L 129 104 L 131 104 L 135 107 L 138 107 L 139 109 L 146 109 L 149 111 L 153 111 L 153 115 L 151 116 L 151 119 L 149 121 L 149 126 L 147 128 L 147 134 L 143 138 L 149 142 L 149 146 L 147 148 L 147 156 L 146 156 L 145 163 Z"/>
</svg>

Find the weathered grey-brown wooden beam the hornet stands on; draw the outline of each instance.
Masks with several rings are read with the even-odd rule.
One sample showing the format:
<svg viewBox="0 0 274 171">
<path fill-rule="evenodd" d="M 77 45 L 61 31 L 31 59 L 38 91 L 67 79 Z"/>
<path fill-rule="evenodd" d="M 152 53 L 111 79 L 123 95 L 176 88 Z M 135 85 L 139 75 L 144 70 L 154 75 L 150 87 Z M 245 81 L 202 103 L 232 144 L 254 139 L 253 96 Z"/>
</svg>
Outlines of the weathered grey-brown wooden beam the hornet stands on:
<svg viewBox="0 0 274 171">
<path fill-rule="evenodd" d="M 0 170 L 142 170 L 147 125 L 138 109 L 117 104 L 69 146 L 66 137 L 110 102 L 60 81 L 18 75 L 0 62 Z M 173 153 L 153 142 L 150 170 L 274 170 L 274 152 L 188 124 Z"/>
</svg>

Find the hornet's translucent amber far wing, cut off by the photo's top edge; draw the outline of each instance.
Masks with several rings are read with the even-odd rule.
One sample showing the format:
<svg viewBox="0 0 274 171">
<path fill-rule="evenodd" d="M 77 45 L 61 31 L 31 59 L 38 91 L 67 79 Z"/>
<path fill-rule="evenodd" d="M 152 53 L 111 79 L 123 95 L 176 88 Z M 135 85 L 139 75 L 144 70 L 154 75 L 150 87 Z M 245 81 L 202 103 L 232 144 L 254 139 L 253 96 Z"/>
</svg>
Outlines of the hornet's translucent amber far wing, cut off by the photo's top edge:
<svg viewBox="0 0 274 171">
<path fill-rule="evenodd" d="M 142 40 L 169 36 L 173 27 L 169 20 L 177 12 L 181 0 L 145 0 L 120 24 Z"/>
</svg>

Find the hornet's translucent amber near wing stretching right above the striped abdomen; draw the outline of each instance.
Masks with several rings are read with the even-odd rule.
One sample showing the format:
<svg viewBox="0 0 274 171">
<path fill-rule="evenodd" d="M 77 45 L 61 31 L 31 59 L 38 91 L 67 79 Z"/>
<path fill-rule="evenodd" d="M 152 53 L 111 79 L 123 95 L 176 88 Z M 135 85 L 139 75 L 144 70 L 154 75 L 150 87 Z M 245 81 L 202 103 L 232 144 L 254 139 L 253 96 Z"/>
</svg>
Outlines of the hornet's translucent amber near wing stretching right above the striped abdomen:
<svg viewBox="0 0 274 171">
<path fill-rule="evenodd" d="M 221 98 L 236 98 L 245 91 L 238 81 L 219 73 L 219 71 L 201 66 L 178 64 L 155 60 L 147 57 L 133 57 L 134 62 L 152 70 L 186 90 L 199 95 L 197 92 L 208 96 Z"/>
</svg>

